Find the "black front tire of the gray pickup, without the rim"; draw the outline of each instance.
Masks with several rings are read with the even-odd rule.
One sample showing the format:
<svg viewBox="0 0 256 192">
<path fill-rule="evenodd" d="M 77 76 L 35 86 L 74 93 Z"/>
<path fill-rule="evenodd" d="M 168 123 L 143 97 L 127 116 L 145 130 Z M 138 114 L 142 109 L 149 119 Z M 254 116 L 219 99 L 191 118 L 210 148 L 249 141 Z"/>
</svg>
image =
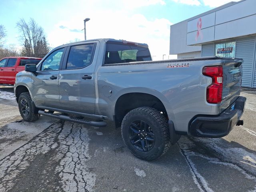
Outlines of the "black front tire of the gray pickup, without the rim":
<svg viewBox="0 0 256 192">
<path fill-rule="evenodd" d="M 24 101 L 24 100 L 26 100 L 28 108 L 29 108 L 28 109 L 28 115 L 25 115 L 22 112 L 21 101 Z M 18 106 L 19 106 L 20 115 L 22 116 L 22 118 L 25 121 L 32 122 L 32 121 L 35 121 L 35 120 L 39 119 L 40 115 L 38 113 L 33 113 L 32 112 L 32 99 L 30 97 L 29 92 L 24 92 L 24 93 L 20 94 L 20 97 L 19 97 L 19 100 L 18 100 Z"/>
</svg>

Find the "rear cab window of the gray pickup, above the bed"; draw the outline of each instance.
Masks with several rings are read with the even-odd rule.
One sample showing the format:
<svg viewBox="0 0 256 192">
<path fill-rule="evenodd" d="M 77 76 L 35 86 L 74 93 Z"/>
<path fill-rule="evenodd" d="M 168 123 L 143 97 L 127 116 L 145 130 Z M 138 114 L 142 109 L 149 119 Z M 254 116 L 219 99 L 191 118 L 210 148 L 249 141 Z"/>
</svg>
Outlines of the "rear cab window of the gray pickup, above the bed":
<svg viewBox="0 0 256 192">
<path fill-rule="evenodd" d="M 130 42 L 107 42 L 104 65 L 151 61 L 147 46 Z"/>
</svg>

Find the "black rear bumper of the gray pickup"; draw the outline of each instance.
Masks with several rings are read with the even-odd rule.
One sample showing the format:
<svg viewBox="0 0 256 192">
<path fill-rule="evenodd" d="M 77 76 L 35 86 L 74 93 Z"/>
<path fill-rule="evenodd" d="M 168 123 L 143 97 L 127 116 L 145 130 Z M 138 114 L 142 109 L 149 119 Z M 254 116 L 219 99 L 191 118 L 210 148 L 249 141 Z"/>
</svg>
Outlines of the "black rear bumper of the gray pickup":
<svg viewBox="0 0 256 192">
<path fill-rule="evenodd" d="M 229 134 L 244 112 L 246 98 L 239 96 L 236 101 L 218 116 L 196 116 L 189 124 L 189 134 L 198 137 L 218 138 Z"/>
</svg>

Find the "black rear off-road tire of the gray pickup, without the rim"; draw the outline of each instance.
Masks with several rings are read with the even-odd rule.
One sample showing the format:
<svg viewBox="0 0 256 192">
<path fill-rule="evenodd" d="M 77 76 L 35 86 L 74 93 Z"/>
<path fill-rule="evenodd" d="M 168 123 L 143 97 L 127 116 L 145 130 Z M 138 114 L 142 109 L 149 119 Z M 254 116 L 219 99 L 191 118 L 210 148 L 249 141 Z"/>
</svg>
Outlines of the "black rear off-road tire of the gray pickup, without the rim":
<svg viewBox="0 0 256 192">
<path fill-rule="evenodd" d="M 154 146 L 149 151 L 136 149 L 130 141 L 130 124 L 136 120 L 146 122 L 154 133 Z M 134 156 L 142 160 L 151 161 L 162 156 L 170 147 L 169 126 L 166 117 L 152 107 L 140 107 L 131 110 L 124 116 L 121 126 L 122 138 Z"/>
</svg>

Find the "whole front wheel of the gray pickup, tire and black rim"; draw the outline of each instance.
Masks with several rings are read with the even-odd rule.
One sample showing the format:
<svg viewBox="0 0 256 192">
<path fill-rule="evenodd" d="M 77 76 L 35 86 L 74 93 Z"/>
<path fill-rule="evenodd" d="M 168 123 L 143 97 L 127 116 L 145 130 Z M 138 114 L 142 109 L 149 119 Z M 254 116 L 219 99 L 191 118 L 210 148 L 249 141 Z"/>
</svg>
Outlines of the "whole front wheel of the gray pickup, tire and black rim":
<svg viewBox="0 0 256 192">
<path fill-rule="evenodd" d="M 32 122 L 39 119 L 40 115 L 32 111 L 32 99 L 29 92 L 20 94 L 18 106 L 20 115 L 25 121 Z"/>
</svg>

